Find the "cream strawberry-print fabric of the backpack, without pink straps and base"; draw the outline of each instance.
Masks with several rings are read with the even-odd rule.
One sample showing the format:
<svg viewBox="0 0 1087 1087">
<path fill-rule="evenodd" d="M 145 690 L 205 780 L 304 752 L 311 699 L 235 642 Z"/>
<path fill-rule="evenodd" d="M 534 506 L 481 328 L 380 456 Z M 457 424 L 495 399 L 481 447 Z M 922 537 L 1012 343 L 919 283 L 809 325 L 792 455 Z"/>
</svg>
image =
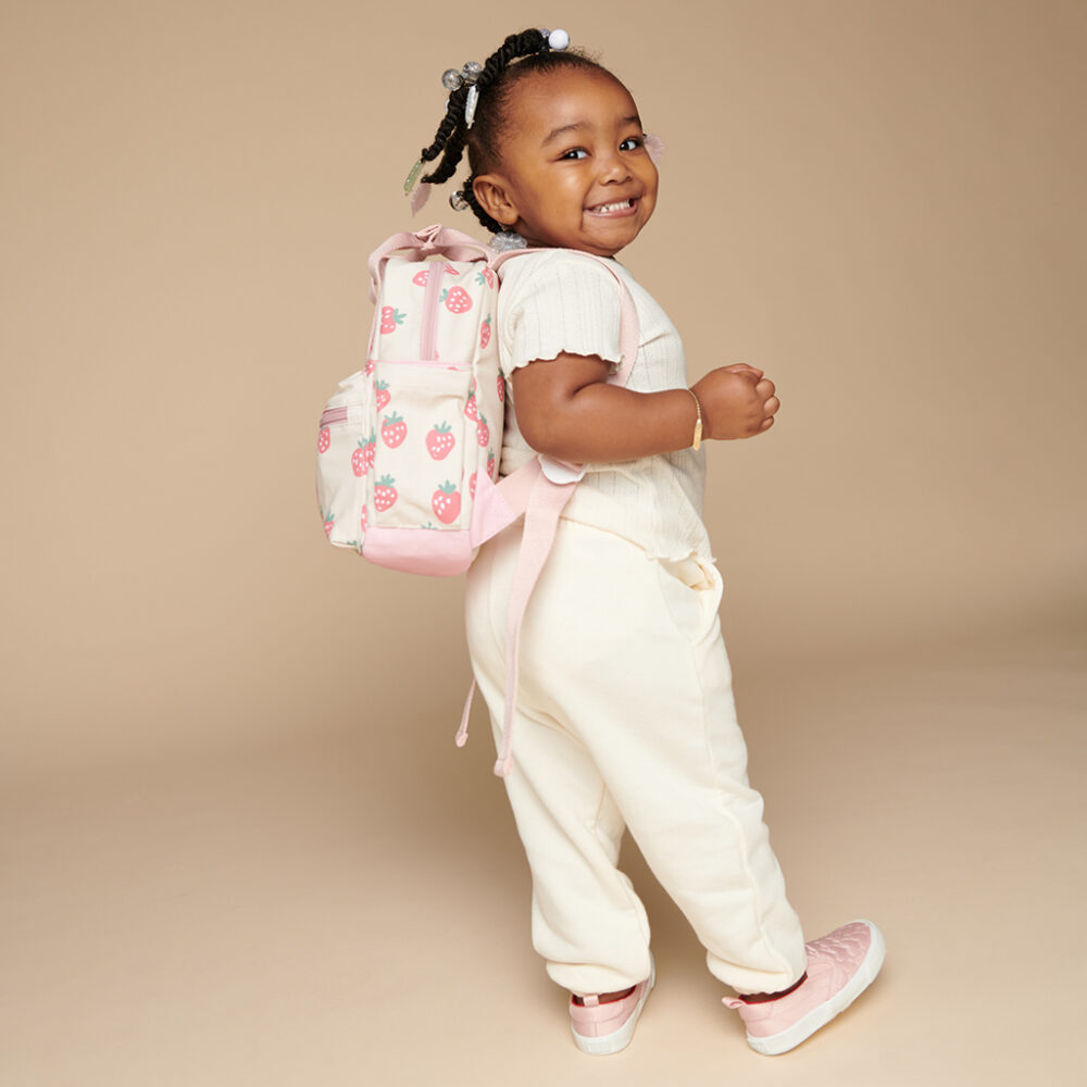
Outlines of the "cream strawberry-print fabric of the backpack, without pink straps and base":
<svg viewBox="0 0 1087 1087">
<path fill-rule="evenodd" d="M 442 289 L 427 295 L 435 268 Z M 489 422 L 501 421 L 505 399 L 497 291 L 478 261 L 388 260 L 363 370 L 329 401 L 317 437 L 332 542 L 361 551 L 375 528 L 441 536 L 470 524 L 479 477 L 499 471 L 501 425 Z M 426 305 L 436 307 L 429 318 Z M 421 360 L 427 320 L 432 353 Z"/>
</svg>

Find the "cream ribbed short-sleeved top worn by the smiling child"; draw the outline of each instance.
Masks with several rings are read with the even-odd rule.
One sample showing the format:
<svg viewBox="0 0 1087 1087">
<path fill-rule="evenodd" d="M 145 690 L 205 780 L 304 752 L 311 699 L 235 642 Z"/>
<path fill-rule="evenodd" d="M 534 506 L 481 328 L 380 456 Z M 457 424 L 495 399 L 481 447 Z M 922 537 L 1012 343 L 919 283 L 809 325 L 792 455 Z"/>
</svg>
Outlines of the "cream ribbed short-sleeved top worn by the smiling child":
<svg viewBox="0 0 1087 1087">
<path fill-rule="evenodd" d="M 609 261 L 638 310 L 638 357 L 627 388 L 663 392 L 687 388 L 687 360 L 675 326 L 617 261 Z M 620 360 L 620 290 L 594 258 L 566 249 L 526 253 L 500 270 L 498 337 L 507 375 L 559 354 Z M 533 450 L 517 428 L 513 388 L 507 386 L 501 474 L 524 464 Z M 694 427 L 692 427 L 694 429 Z M 702 524 L 705 452 L 685 449 L 614 464 L 589 464 L 563 511 L 570 521 L 605 528 L 653 558 L 711 555 Z"/>
</svg>

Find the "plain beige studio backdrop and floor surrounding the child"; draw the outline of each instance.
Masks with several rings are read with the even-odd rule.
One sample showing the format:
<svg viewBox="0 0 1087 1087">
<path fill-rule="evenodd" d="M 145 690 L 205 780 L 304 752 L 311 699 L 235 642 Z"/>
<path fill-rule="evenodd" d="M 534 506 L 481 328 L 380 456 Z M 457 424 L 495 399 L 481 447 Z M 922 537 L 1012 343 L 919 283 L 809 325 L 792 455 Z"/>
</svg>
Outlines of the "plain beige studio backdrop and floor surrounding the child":
<svg viewBox="0 0 1087 1087">
<path fill-rule="evenodd" d="M 0 5 L 3 1083 L 1083 1082 L 1087 9 L 545 7 Z M 544 20 L 669 143 L 692 378 L 784 401 L 711 451 L 741 720 L 811 934 L 890 952 L 777 1062 L 633 849 L 659 990 L 574 1050 L 461 585 L 320 528 L 438 76 Z"/>
</svg>

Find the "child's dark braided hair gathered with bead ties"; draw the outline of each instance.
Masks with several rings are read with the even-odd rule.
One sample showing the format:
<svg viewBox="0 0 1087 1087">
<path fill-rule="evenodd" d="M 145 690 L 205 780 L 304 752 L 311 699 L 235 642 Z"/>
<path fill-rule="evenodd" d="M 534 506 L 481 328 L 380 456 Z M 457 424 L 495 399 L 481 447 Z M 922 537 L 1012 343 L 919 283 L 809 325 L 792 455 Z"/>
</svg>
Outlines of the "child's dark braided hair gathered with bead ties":
<svg viewBox="0 0 1087 1087">
<path fill-rule="evenodd" d="M 576 49 L 552 52 L 547 36 L 536 27 L 522 30 L 520 34 L 511 34 L 487 58 L 476 79 L 479 104 L 471 129 L 464 122 L 468 86 L 462 85 L 450 93 L 446 115 L 438 125 L 434 142 L 420 152 L 423 162 L 434 162 L 439 155 L 441 161 L 421 180 L 430 183 L 448 180 L 453 176 L 464 154 L 464 148 L 467 147 L 471 172 L 464 182 L 461 195 L 475 217 L 488 230 L 499 234 L 505 229 L 480 207 L 472 183 L 477 175 L 487 173 L 499 161 L 499 148 L 509 127 L 508 108 L 513 88 L 528 75 L 546 74 L 559 68 L 582 68 L 612 75 L 602 64 Z"/>
</svg>

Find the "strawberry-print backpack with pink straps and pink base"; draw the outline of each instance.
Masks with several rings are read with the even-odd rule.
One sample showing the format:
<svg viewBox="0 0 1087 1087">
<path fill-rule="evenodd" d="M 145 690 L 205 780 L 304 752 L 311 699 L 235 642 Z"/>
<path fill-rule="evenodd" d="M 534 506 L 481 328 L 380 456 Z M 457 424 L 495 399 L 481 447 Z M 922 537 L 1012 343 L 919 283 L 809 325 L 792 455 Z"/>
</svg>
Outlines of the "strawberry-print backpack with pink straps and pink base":
<svg viewBox="0 0 1087 1087">
<path fill-rule="evenodd" d="M 507 624 L 509 671 L 499 775 L 509 773 L 521 619 L 547 561 L 559 514 L 584 475 L 537 457 L 499 479 L 505 387 L 496 320 L 505 260 L 440 224 L 393 235 L 370 258 L 374 321 L 365 366 L 340 382 L 321 415 L 317 501 L 325 535 L 364 559 L 415 574 L 464 573 L 479 546 L 525 515 Z M 638 317 L 622 297 L 625 385 Z M 467 739 L 468 692 L 459 745 Z"/>
</svg>

